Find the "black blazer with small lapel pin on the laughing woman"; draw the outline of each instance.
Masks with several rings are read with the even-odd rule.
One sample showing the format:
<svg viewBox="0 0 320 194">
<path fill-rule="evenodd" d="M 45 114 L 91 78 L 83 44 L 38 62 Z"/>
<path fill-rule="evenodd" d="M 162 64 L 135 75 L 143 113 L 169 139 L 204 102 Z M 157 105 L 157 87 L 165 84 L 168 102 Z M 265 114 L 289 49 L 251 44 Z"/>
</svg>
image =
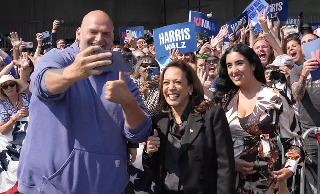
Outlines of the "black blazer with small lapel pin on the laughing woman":
<svg viewBox="0 0 320 194">
<path fill-rule="evenodd" d="M 160 148 L 151 157 L 143 153 L 144 170 L 154 177 L 155 193 L 161 194 L 166 176 L 164 157 L 169 133 L 169 114 L 151 117 L 160 137 Z M 224 110 L 211 106 L 205 114 L 189 114 L 181 148 L 179 171 L 184 194 L 236 194 L 235 159 Z"/>
</svg>

